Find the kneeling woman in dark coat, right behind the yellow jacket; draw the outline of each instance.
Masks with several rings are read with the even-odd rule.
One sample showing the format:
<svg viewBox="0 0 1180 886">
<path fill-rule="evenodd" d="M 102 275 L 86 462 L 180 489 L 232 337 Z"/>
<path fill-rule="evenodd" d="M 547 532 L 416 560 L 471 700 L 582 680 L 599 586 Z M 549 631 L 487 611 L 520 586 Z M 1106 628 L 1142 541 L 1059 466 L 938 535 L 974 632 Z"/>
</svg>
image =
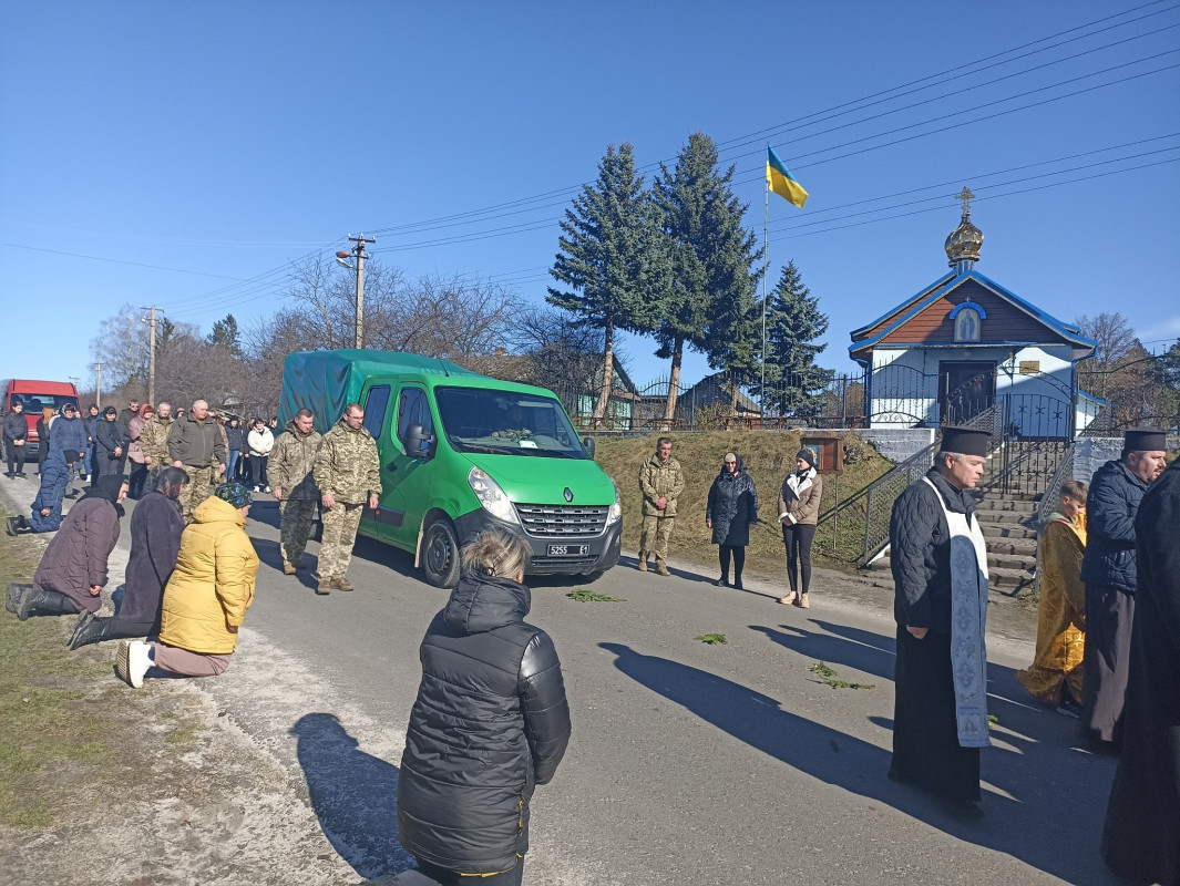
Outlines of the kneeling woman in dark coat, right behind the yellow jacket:
<svg viewBox="0 0 1180 886">
<path fill-rule="evenodd" d="M 181 550 L 181 490 L 189 475 L 178 467 L 156 474 L 155 488 L 131 513 L 131 558 L 127 560 L 123 602 L 117 616 L 106 618 L 84 612 L 70 648 L 122 637 L 148 637 L 159 631 L 159 608 L 164 586 L 176 569 Z"/>
</svg>

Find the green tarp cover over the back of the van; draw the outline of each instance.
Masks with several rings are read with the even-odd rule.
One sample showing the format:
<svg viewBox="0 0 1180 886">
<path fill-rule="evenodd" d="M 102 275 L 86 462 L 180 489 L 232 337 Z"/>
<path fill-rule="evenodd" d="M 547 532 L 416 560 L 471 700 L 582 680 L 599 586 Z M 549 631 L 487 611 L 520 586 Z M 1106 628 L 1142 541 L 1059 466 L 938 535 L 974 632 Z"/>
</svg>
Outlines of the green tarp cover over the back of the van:
<svg viewBox="0 0 1180 886">
<path fill-rule="evenodd" d="M 343 415 L 345 406 L 360 399 L 371 375 L 464 375 L 478 376 L 461 366 L 395 350 L 301 350 L 283 361 L 283 391 L 278 401 L 278 425 L 286 427 L 295 413 L 307 407 L 315 413 L 315 427 L 327 432 Z"/>
</svg>

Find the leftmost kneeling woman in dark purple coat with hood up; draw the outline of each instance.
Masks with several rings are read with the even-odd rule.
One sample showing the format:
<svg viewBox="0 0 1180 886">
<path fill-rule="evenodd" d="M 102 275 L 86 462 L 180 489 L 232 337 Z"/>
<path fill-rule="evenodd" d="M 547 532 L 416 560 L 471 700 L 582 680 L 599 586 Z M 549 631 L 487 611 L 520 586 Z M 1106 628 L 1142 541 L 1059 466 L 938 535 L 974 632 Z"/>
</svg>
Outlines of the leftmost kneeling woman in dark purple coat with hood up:
<svg viewBox="0 0 1180 886">
<path fill-rule="evenodd" d="M 127 481 L 120 474 L 99 477 L 61 521 L 33 584 L 8 585 L 8 611 L 30 616 L 97 612 L 106 585 L 106 562 L 119 540 L 119 517 Z"/>
</svg>

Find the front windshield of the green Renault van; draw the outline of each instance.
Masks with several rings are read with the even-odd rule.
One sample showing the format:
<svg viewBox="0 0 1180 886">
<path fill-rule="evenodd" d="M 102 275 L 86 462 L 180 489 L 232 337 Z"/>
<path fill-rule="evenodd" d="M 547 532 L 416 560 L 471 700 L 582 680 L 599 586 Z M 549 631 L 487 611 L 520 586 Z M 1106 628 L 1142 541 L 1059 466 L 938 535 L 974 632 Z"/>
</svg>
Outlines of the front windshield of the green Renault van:
<svg viewBox="0 0 1180 886">
<path fill-rule="evenodd" d="M 486 388 L 434 388 L 442 433 L 457 452 L 590 458 L 551 396 Z"/>
</svg>

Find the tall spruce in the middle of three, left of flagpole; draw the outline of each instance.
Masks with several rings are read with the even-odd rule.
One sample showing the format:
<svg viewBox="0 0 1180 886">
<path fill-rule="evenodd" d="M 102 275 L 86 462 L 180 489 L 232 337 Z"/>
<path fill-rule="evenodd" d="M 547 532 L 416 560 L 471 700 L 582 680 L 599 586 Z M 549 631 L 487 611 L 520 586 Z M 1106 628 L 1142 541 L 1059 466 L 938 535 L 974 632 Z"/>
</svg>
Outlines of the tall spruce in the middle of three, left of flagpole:
<svg viewBox="0 0 1180 886">
<path fill-rule="evenodd" d="M 707 354 L 714 368 L 741 372 L 752 357 L 746 352 L 745 319 L 760 277 L 753 265 L 761 252 L 754 251 L 754 235 L 742 227 L 747 206 L 733 193 L 733 166 L 720 170 L 713 139 L 694 132 L 675 169 L 669 172 L 660 164 L 653 183 L 673 270 L 655 329 L 656 356 L 671 359 L 667 420 L 676 412 L 686 344 Z"/>
</svg>

